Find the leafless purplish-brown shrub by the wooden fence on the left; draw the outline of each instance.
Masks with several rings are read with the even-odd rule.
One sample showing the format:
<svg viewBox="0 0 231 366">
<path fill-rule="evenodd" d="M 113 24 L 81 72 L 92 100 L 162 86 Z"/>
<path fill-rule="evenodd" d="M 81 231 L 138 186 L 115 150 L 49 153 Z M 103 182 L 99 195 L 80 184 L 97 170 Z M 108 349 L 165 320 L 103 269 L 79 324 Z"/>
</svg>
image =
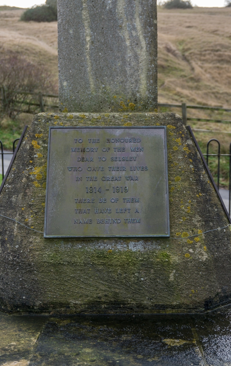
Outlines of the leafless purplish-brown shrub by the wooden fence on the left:
<svg viewBox="0 0 231 366">
<path fill-rule="evenodd" d="M 26 93 L 47 93 L 53 90 L 50 74 L 44 67 L 17 53 L 0 55 L 1 112 L 15 118 L 30 104 Z M 31 111 L 34 112 L 34 111 Z"/>
</svg>

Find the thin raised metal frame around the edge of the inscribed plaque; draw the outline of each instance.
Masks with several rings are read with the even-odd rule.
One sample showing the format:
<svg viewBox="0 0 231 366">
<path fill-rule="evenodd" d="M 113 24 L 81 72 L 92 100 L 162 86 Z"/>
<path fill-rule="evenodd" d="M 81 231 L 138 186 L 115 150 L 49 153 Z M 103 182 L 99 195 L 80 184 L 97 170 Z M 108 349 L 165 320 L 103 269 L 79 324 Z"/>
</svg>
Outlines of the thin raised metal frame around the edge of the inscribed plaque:
<svg viewBox="0 0 231 366">
<path fill-rule="evenodd" d="M 163 128 L 164 129 L 164 155 L 165 155 L 165 174 L 166 174 L 166 210 L 167 210 L 167 234 L 141 234 L 141 235 L 46 235 L 46 215 L 48 203 L 48 183 L 49 183 L 49 157 L 50 157 L 50 134 L 52 129 L 141 129 L 141 128 Z M 166 126 L 49 126 L 48 137 L 48 160 L 47 160 L 47 177 L 46 177 L 46 201 L 45 201 L 45 223 L 44 223 L 44 238 L 169 238 L 170 237 L 170 215 L 169 215 L 169 193 L 168 193 L 168 158 L 167 158 L 167 131 Z"/>
</svg>

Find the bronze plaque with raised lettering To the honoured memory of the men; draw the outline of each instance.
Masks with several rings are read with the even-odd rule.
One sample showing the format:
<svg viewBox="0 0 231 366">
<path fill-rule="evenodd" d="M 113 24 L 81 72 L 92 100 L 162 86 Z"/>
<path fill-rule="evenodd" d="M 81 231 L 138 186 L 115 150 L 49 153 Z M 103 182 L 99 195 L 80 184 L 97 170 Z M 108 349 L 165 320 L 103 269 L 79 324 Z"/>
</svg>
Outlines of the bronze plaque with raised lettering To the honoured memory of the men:
<svg viewBox="0 0 231 366">
<path fill-rule="evenodd" d="M 50 127 L 44 237 L 170 236 L 166 127 Z"/>
</svg>

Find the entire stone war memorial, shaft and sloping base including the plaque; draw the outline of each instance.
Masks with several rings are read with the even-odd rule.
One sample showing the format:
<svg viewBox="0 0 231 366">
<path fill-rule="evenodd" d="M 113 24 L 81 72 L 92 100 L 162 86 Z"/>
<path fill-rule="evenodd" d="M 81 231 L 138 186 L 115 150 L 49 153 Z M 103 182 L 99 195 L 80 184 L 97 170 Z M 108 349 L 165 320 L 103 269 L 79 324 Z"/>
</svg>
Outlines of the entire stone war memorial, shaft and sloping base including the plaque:
<svg viewBox="0 0 231 366">
<path fill-rule="evenodd" d="M 200 313 L 231 299 L 230 218 L 190 127 L 157 113 L 155 0 L 58 0 L 59 113 L 0 194 L 2 311 Z"/>
</svg>

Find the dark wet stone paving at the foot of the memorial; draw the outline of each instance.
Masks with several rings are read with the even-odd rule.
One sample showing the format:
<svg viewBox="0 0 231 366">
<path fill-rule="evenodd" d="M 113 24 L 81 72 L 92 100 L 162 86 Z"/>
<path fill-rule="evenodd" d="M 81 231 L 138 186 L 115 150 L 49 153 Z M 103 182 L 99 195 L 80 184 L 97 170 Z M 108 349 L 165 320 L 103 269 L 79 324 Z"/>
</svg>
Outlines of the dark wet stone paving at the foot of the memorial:
<svg viewBox="0 0 231 366">
<path fill-rule="evenodd" d="M 200 315 L 0 314 L 4 366 L 230 366 L 231 307 Z"/>
</svg>

